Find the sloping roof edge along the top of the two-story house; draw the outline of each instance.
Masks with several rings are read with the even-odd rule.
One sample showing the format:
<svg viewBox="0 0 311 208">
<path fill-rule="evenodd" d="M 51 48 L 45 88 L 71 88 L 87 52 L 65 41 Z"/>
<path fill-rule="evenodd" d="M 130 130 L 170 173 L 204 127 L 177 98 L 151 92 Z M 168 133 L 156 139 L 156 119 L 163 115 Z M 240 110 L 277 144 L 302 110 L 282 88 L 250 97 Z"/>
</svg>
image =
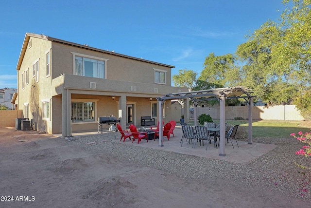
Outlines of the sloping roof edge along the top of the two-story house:
<svg viewBox="0 0 311 208">
<path fill-rule="evenodd" d="M 158 63 L 158 62 L 155 62 L 155 61 L 146 60 L 146 59 L 143 59 L 143 58 L 131 57 L 131 56 L 115 53 L 113 51 L 106 51 L 106 50 L 102 50 L 102 49 L 98 49 L 98 48 L 93 48 L 93 47 L 90 47 L 88 45 L 81 45 L 81 44 L 74 43 L 74 42 L 69 42 L 69 41 L 66 41 L 66 40 L 52 38 L 52 37 L 49 37 L 49 36 L 46 36 L 46 35 L 43 35 L 43 34 L 39 35 L 39 34 L 35 34 L 35 33 L 26 33 L 25 38 L 24 38 L 24 42 L 23 42 L 23 45 L 22 45 L 22 48 L 21 48 L 21 51 L 20 51 L 20 55 L 19 55 L 19 58 L 18 58 L 18 62 L 17 62 L 17 67 L 16 67 L 17 70 L 20 69 L 21 63 L 22 63 L 23 58 L 25 56 L 25 52 L 26 52 L 26 49 L 27 49 L 27 46 L 28 46 L 29 39 L 31 37 L 41 38 L 41 39 L 49 40 L 49 41 L 52 41 L 52 42 L 62 43 L 62 44 L 67 44 L 67 45 L 74 46 L 74 47 L 85 48 L 87 50 L 97 51 L 97 52 L 101 52 L 101 53 L 104 53 L 104 54 L 109 54 L 109 55 L 113 55 L 113 56 L 117 56 L 117 57 L 129 58 L 129 59 L 133 59 L 133 60 L 137 60 L 137 61 L 142 61 L 142 62 L 146 62 L 146 63 L 151 63 L 151 64 L 155 64 L 155 65 L 159 65 L 159 66 L 175 68 L 172 65 L 162 64 L 162 63 Z"/>
</svg>

